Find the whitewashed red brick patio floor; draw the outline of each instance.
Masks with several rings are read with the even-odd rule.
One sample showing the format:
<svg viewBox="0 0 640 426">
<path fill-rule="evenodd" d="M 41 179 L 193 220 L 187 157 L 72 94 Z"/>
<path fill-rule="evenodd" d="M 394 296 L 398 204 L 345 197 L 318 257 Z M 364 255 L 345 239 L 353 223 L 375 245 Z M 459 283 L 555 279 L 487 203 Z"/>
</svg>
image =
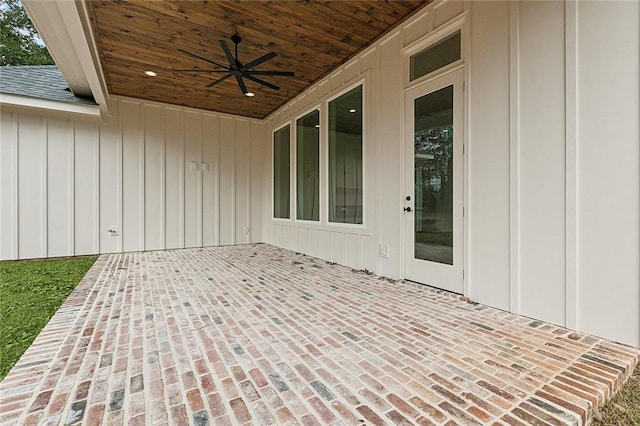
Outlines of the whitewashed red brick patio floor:
<svg viewBox="0 0 640 426">
<path fill-rule="evenodd" d="M 639 350 L 269 245 L 101 256 L 2 424 L 586 424 Z"/>
</svg>

